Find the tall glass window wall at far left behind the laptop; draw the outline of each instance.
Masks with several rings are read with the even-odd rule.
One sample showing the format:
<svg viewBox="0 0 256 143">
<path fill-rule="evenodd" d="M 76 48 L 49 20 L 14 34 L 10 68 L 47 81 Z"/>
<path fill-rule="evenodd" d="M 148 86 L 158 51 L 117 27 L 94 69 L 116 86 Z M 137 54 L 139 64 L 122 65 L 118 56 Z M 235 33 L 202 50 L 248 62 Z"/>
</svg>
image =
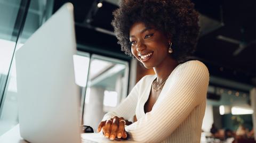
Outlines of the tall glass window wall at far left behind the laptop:
<svg viewBox="0 0 256 143">
<path fill-rule="evenodd" d="M 29 3 L 29 1 L 22 2 L 22 4 L 26 3 L 25 5 Z M 17 51 L 41 26 L 42 19 L 45 18 L 44 14 L 49 11 L 44 9 L 47 2 L 46 0 L 30 1 L 23 31 L 17 37 L 17 33 L 20 30 L 18 28 L 21 28 L 21 20 L 23 20 L 20 17 L 17 19 L 17 15 L 18 12 L 21 15 L 25 13 L 25 6 L 22 5 L 22 9 L 19 11 L 21 7 L 20 0 L 0 0 L 0 101 L 2 98 L 0 106 L 0 136 L 18 123 L 14 49 Z M 16 43 L 17 39 L 18 43 Z"/>
</svg>

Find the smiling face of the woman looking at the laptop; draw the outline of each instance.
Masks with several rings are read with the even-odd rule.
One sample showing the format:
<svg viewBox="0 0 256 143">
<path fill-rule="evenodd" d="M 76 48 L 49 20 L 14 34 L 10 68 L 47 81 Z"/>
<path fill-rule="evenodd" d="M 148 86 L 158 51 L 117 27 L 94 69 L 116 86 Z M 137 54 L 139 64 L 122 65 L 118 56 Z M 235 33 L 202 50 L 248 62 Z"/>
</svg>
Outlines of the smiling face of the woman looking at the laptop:
<svg viewBox="0 0 256 143">
<path fill-rule="evenodd" d="M 130 28 L 131 51 L 145 68 L 154 68 L 161 64 L 167 56 L 171 42 L 159 30 L 147 28 L 142 22 L 134 23 Z"/>
</svg>

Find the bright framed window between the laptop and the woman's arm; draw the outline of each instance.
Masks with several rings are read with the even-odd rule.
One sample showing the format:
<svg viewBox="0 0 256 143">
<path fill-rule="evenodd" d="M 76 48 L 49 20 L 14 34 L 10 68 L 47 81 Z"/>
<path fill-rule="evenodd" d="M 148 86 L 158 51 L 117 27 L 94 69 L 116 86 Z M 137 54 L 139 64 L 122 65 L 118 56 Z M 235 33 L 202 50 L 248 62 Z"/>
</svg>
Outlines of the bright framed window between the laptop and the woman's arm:
<svg viewBox="0 0 256 143">
<path fill-rule="evenodd" d="M 92 55 L 85 95 L 84 125 L 96 130 L 103 115 L 126 97 L 128 72 L 129 66 L 125 61 Z"/>
</svg>

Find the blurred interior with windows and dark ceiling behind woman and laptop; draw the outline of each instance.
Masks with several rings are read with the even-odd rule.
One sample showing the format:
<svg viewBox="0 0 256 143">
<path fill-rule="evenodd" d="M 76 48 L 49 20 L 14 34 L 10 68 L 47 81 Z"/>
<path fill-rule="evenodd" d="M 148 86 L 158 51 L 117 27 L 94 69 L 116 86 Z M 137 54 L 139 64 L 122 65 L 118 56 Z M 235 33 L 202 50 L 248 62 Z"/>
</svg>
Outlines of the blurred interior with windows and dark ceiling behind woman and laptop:
<svg viewBox="0 0 256 143">
<path fill-rule="evenodd" d="M 117 44 L 110 22 L 119 0 L 0 0 L 0 136 L 19 122 L 13 55 L 66 2 L 74 5 L 83 124 L 95 130 L 136 82 L 154 74 Z M 201 30 L 191 58 L 210 71 L 201 142 L 255 142 L 255 1 L 192 2 Z"/>
</svg>

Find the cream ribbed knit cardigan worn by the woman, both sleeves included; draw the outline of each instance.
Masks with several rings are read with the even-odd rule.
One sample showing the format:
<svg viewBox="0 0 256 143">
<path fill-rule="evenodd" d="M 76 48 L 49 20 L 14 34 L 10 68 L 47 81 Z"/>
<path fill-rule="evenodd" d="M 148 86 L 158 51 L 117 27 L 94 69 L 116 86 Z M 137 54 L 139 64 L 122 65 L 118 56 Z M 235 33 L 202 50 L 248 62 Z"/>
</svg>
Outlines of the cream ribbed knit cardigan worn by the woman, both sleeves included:
<svg viewBox="0 0 256 143">
<path fill-rule="evenodd" d="M 130 94 L 103 120 L 113 116 L 138 121 L 125 127 L 138 142 L 200 142 L 205 113 L 209 71 L 200 61 L 179 64 L 167 79 L 152 110 L 145 114 L 144 105 L 156 75 L 146 75 Z"/>
</svg>

